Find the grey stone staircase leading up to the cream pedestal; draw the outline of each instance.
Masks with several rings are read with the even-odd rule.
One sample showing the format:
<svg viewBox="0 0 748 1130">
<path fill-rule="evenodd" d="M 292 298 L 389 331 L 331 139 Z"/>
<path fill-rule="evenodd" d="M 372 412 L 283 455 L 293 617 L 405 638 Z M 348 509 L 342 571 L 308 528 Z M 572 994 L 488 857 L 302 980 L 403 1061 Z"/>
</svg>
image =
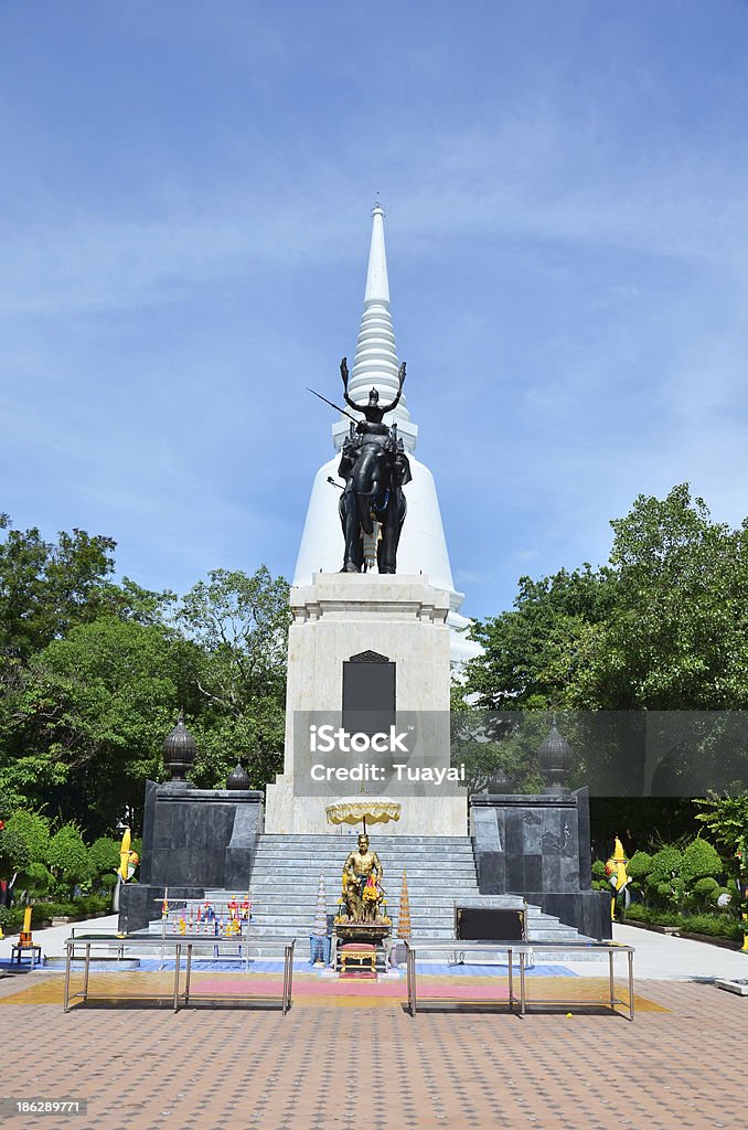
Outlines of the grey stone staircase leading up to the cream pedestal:
<svg viewBox="0 0 748 1130">
<path fill-rule="evenodd" d="M 342 864 L 356 846 L 357 833 L 342 835 L 269 835 L 259 837 L 250 889 L 252 936 L 262 939 L 296 937 L 297 951 L 307 951 L 314 925 L 320 875 L 324 876 L 328 913 L 338 911 Z M 521 906 L 516 895 L 480 895 L 472 844 L 468 836 L 371 836 L 384 868 L 388 912 L 393 936 L 400 913 L 402 870 L 408 876 L 414 938 L 453 938 L 454 903 L 477 906 Z M 207 890 L 219 901 L 245 892 Z M 530 941 L 584 940 L 573 927 L 528 910 Z M 151 929 L 156 923 L 151 924 Z M 548 955 L 553 957 L 553 955 Z"/>
</svg>

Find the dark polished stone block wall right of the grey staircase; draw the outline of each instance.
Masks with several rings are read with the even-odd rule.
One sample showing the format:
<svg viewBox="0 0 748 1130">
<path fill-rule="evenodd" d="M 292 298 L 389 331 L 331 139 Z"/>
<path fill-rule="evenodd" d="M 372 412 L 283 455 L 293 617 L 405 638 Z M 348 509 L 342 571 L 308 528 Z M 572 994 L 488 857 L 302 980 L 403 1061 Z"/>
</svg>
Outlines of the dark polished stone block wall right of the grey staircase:
<svg viewBox="0 0 748 1130">
<path fill-rule="evenodd" d="M 470 803 L 481 894 L 522 895 L 588 937 L 611 937 L 610 895 L 591 888 L 588 789 Z"/>
</svg>

